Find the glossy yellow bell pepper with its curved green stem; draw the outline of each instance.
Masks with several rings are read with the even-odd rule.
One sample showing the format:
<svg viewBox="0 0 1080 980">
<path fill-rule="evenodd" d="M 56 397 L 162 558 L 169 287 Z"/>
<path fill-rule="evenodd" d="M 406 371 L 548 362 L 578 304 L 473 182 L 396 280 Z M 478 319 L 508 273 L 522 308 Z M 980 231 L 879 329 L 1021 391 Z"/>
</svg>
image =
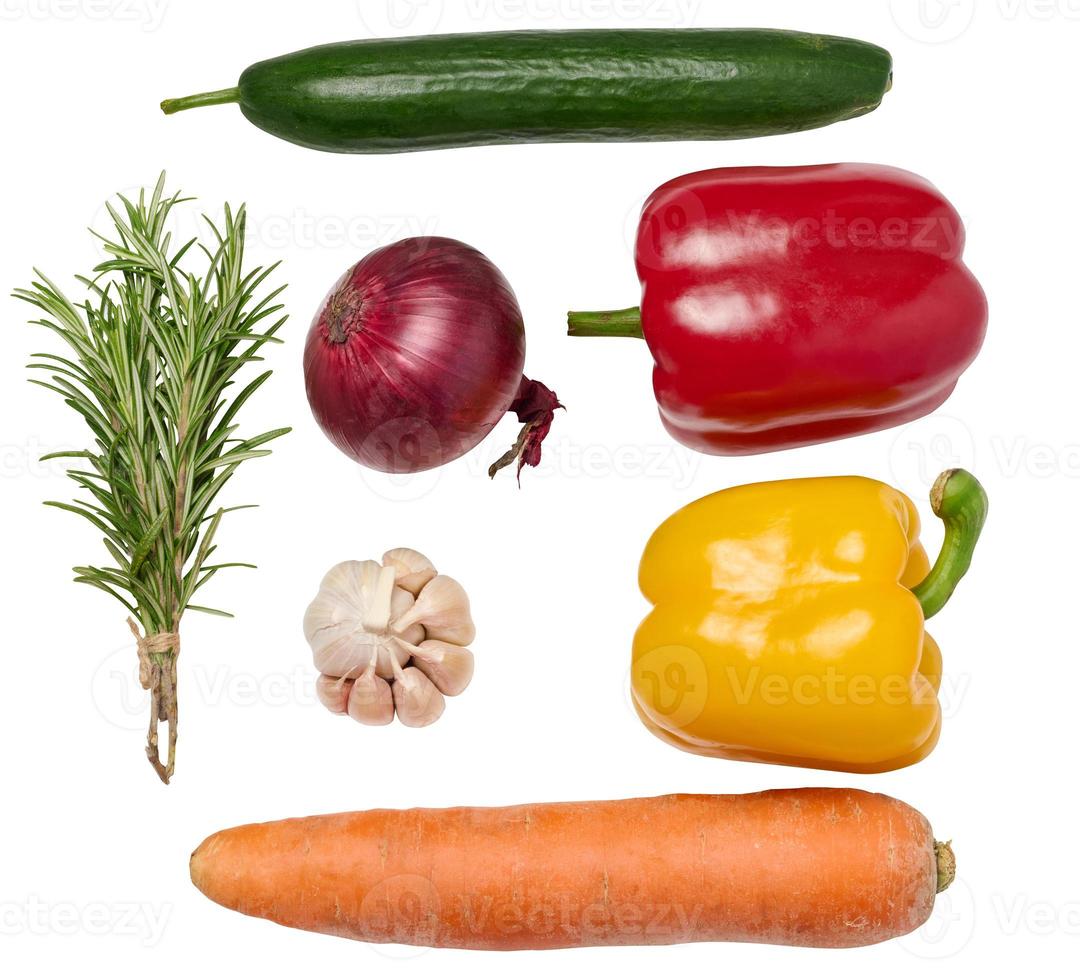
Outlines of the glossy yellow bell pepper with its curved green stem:
<svg viewBox="0 0 1080 980">
<path fill-rule="evenodd" d="M 902 493 L 858 476 L 721 491 L 649 541 L 632 688 L 648 728 L 702 755 L 880 773 L 937 741 L 942 660 L 924 620 L 971 563 L 978 481 L 943 473 L 933 569 Z"/>
</svg>

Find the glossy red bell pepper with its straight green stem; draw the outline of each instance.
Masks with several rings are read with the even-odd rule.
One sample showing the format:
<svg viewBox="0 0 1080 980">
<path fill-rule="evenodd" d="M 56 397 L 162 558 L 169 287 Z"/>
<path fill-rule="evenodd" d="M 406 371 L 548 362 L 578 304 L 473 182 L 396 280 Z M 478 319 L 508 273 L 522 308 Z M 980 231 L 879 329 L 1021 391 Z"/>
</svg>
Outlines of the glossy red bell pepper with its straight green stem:
<svg viewBox="0 0 1080 980">
<path fill-rule="evenodd" d="M 963 225 L 887 166 L 689 174 L 646 202 L 640 308 L 570 313 L 572 336 L 643 337 L 677 440 L 743 455 L 933 412 L 974 360 L 986 298 Z"/>
</svg>

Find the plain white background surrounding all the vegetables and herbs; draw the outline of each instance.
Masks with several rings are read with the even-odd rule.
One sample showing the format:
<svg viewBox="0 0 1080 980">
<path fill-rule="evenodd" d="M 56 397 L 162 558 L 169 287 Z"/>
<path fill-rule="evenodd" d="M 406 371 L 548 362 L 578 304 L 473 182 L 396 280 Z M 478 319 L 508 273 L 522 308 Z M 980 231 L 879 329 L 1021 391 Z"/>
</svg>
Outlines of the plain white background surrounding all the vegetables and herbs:
<svg viewBox="0 0 1080 980">
<path fill-rule="evenodd" d="M 797 136 L 729 144 L 498 147 L 396 157 L 321 155 L 275 140 L 235 107 L 168 118 L 158 100 L 233 84 L 262 57 L 319 42 L 429 30 L 770 26 L 889 48 L 895 88 L 875 113 Z M 0 0 L 4 293 L 31 264 L 62 283 L 96 259 L 102 202 L 152 184 L 203 207 L 245 201 L 251 253 L 282 259 L 294 319 L 251 431 L 295 434 L 245 464 L 225 502 L 222 553 L 257 572 L 218 577 L 231 621 L 184 622 L 174 784 L 143 757 L 141 692 L 122 609 L 71 583 L 98 535 L 43 508 L 73 485 L 37 456 L 85 443 L 80 420 L 25 382 L 53 341 L 4 298 L 0 488 L 4 674 L 0 956 L 10 976 L 287 977 L 507 969 L 544 977 L 798 970 L 804 977 L 1055 972 L 1080 942 L 1076 846 L 1076 57 L 1068 0 Z M 568 307 L 636 301 L 629 237 L 644 197 L 708 166 L 840 160 L 934 180 L 969 230 L 991 324 L 981 359 L 934 417 L 900 431 L 745 459 L 673 444 L 650 361 L 634 341 L 569 340 Z M 189 230 L 193 226 L 189 225 Z M 514 284 L 527 372 L 568 406 L 540 472 L 489 483 L 508 419 L 468 458 L 394 481 L 334 451 L 310 418 L 302 338 L 335 278 L 406 234 L 460 238 Z M 726 763 L 648 735 L 626 697 L 645 612 L 640 549 L 678 506 L 762 479 L 862 473 L 920 502 L 935 473 L 974 469 L 991 498 L 974 570 L 934 621 L 945 655 L 944 735 L 923 763 L 847 776 Z M 927 521 L 928 545 L 939 529 Z M 365 729 L 313 700 L 300 631 L 326 568 L 394 546 L 430 554 L 469 589 L 472 687 L 432 728 Z M 374 806 L 607 798 L 671 791 L 858 786 L 920 808 L 955 840 L 959 880 L 919 934 L 850 951 L 683 947 L 561 953 L 395 951 L 294 932 L 213 905 L 189 851 L 234 823 Z M 1057 974 L 1061 975 L 1061 967 Z"/>
</svg>

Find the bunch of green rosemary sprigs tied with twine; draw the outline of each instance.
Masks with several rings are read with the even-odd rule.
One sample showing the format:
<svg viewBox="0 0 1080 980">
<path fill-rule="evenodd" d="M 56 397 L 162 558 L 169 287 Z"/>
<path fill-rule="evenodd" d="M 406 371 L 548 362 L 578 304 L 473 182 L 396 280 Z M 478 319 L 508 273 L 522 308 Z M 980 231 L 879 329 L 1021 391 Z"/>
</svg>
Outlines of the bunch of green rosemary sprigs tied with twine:
<svg viewBox="0 0 1080 980">
<path fill-rule="evenodd" d="M 72 303 L 48 278 L 15 296 L 36 306 L 69 355 L 32 354 L 33 382 L 55 391 L 90 428 L 93 446 L 44 457 L 79 460 L 68 476 L 82 491 L 73 502 L 46 501 L 90 521 L 105 535 L 112 564 L 77 567 L 76 581 L 94 586 L 127 608 L 138 637 L 139 680 L 149 689 L 147 756 L 162 781 L 176 763 L 176 659 L 180 619 L 195 593 L 221 568 L 212 563 L 222 514 L 215 499 L 246 459 L 288 429 L 238 435 L 237 416 L 266 382 L 266 371 L 239 390 L 238 375 L 261 361 L 286 317 L 275 303 L 284 286 L 264 291 L 275 266 L 244 269 L 244 209 L 225 209 L 224 227 L 205 218 L 207 243 L 174 249 L 170 212 L 189 198 L 164 194 L 162 174 L 149 198 L 120 197 L 108 205 L 113 230 L 98 234 L 108 259 L 94 277 L 77 277 L 86 298 Z M 96 232 L 95 232 L 96 234 Z M 197 246 L 197 247 L 195 247 Z M 200 274 L 186 270 L 203 258 Z M 264 292 L 261 298 L 257 294 Z M 139 629 L 141 629 L 141 634 Z M 168 725 L 164 761 L 159 722 Z"/>
</svg>

